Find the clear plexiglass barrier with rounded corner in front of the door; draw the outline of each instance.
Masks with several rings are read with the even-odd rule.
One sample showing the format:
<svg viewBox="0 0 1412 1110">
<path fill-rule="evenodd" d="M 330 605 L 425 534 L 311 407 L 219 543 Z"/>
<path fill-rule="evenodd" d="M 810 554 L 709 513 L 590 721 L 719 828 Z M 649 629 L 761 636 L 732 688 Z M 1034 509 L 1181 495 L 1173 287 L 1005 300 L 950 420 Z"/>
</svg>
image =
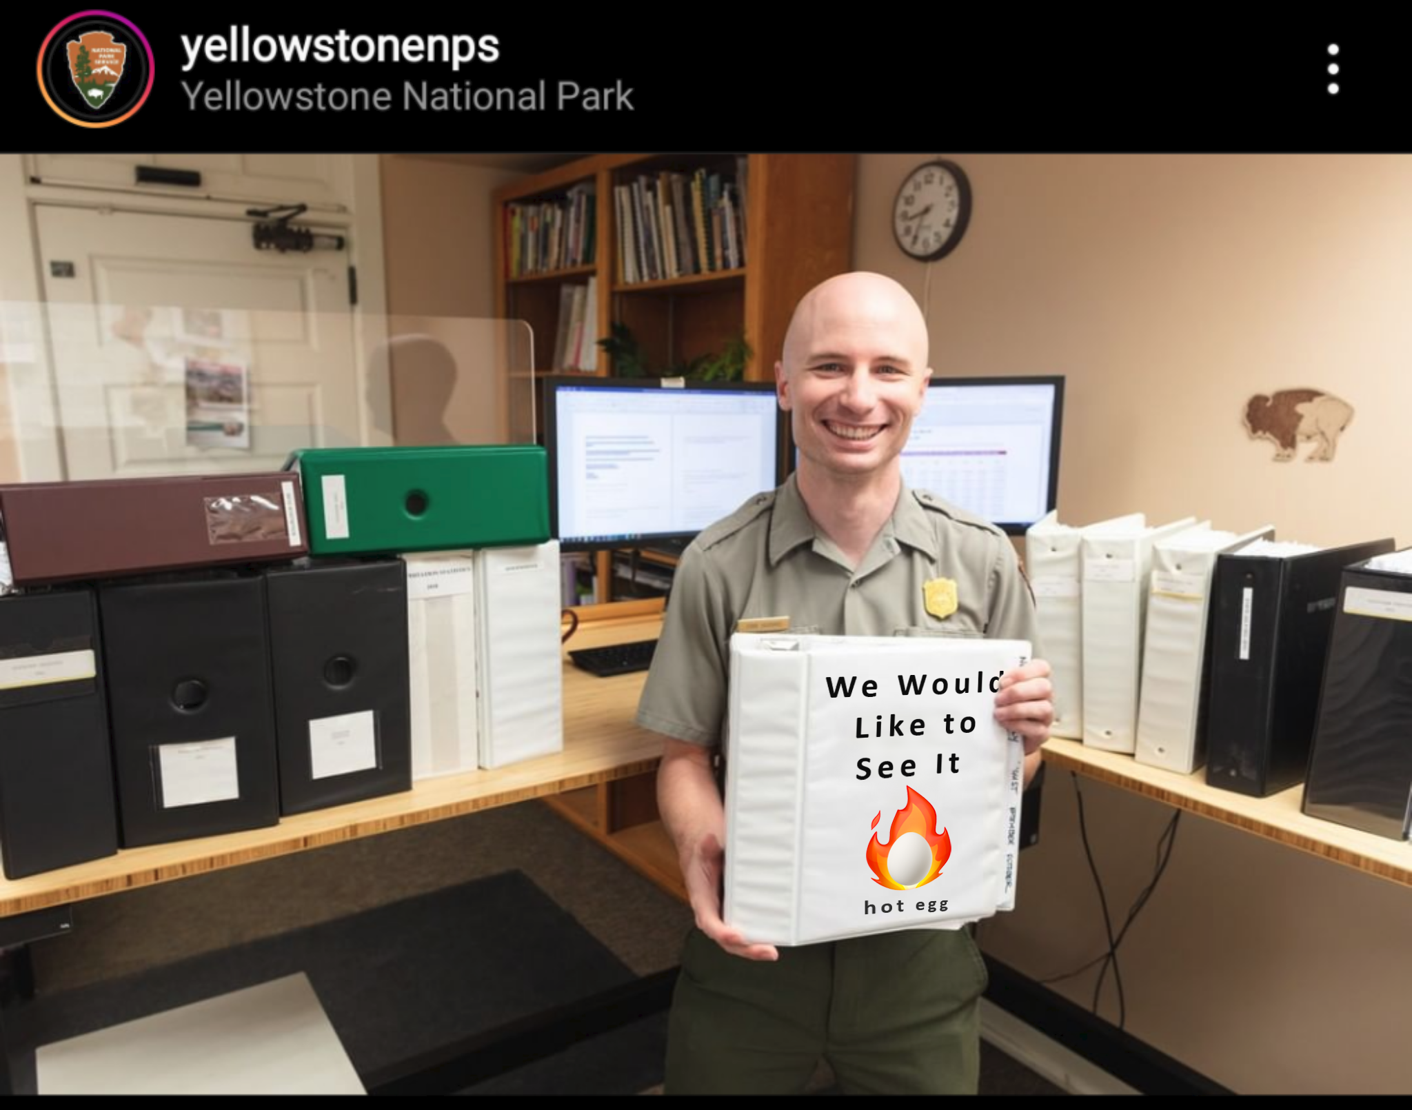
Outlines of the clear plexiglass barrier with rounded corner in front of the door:
<svg viewBox="0 0 1412 1110">
<path fill-rule="evenodd" d="M 532 367 L 522 321 L 0 302 L 0 482 L 278 470 L 301 448 L 532 443 Z"/>
</svg>

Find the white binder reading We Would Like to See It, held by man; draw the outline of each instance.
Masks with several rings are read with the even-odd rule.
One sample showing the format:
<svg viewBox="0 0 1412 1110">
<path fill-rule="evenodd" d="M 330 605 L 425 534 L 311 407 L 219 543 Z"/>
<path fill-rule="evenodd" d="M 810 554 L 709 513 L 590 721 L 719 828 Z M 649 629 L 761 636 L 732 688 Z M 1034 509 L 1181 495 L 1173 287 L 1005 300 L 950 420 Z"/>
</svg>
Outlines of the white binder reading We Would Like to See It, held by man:
<svg viewBox="0 0 1412 1110">
<path fill-rule="evenodd" d="M 760 943 L 959 928 L 1014 905 L 1018 640 L 737 634 L 724 918 Z"/>
</svg>

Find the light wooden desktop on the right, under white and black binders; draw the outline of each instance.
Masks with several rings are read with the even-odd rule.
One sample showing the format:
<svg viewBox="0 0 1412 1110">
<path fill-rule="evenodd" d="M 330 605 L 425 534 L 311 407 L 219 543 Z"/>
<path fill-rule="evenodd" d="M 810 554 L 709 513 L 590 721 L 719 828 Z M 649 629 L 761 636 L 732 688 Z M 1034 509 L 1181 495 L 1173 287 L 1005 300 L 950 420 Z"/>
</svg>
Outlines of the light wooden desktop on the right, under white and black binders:
<svg viewBox="0 0 1412 1110">
<path fill-rule="evenodd" d="M 1206 785 L 1204 768 L 1179 775 L 1147 767 L 1131 756 L 1084 747 L 1077 740 L 1049 740 L 1041 750 L 1045 763 L 1055 768 L 1077 771 L 1267 840 L 1412 885 L 1412 843 L 1306 816 L 1299 808 L 1305 791 L 1302 782 L 1269 798 L 1247 798 Z"/>
</svg>

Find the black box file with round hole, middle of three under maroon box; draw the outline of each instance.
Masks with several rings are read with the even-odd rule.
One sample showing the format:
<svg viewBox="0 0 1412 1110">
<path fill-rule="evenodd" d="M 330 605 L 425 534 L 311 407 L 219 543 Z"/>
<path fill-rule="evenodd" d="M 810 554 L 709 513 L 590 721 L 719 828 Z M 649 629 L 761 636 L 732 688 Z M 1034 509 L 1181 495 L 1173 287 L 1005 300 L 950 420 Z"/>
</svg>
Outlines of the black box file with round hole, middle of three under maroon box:
<svg viewBox="0 0 1412 1110">
<path fill-rule="evenodd" d="M 280 822 L 264 578 L 99 587 L 123 847 Z"/>
</svg>

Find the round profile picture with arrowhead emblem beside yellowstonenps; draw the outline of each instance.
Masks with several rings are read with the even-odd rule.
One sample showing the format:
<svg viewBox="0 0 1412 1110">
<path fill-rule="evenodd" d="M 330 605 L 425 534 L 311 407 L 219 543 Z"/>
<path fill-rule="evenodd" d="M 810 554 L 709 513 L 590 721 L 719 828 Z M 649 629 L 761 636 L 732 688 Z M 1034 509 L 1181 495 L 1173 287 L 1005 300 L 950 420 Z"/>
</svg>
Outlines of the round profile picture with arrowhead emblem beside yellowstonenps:
<svg viewBox="0 0 1412 1110">
<path fill-rule="evenodd" d="M 113 11 L 80 11 L 40 47 L 40 92 L 79 127 L 112 127 L 147 103 L 152 48 L 136 24 Z"/>
</svg>

